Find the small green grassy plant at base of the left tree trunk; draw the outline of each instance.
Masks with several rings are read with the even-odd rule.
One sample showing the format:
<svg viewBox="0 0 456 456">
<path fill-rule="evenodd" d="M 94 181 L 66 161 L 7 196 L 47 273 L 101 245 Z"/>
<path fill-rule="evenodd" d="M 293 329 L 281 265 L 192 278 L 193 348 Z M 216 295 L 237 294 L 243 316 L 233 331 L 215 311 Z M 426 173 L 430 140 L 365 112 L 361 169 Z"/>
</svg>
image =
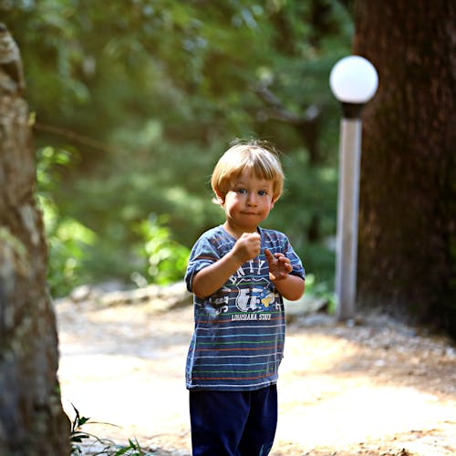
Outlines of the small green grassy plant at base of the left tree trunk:
<svg viewBox="0 0 456 456">
<path fill-rule="evenodd" d="M 73 404 L 71 405 L 75 410 L 75 418 L 71 421 L 70 431 L 70 454 L 72 456 L 82 456 L 84 454 L 83 449 L 80 445 L 78 445 L 83 441 L 88 443 L 90 454 L 93 456 L 97 456 L 99 454 L 106 454 L 108 456 L 149 456 L 152 454 L 151 452 L 142 449 L 136 438 L 129 439 L 128 445 L 118 445 L 112 440 L 100 439 L 96 435 L 86 432 L 85 430 L 81 430 L 82 426 L 88 424 L 90 419 L 87 417 L 81 417 L 79 410 Z M 95 421 L 91 421 L 91 423 L 100 424 Z M 96 446 L 99 447 L 99 450 L 95 450 Z"/>
</svg>

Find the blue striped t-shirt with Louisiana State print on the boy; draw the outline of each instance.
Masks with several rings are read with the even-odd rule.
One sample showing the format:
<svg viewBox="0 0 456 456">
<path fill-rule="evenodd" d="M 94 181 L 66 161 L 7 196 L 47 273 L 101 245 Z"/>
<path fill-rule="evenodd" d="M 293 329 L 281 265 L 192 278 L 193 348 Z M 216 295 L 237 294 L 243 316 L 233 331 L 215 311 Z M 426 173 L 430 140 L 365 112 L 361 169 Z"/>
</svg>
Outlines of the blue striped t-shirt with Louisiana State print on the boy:
<svg viewBox="0 0 456 456">
<path fill-rule="evenodd" d="M 261 254 L 244 263 L 213 295 L 193 295 L 195 328 L 186 364 L 188 389 L 253 390 L 275 384 L 284 355 L 282 296 L 269 279 L 264 248 L 290 259 L 292 275 L 305 278 L 301 260 L 285 234 L 258 228 Z M 193 276 L 227 254 L 236 240 L 223 226 L 203 233 L 192 248 L 185 275 Z"/>
</svg>

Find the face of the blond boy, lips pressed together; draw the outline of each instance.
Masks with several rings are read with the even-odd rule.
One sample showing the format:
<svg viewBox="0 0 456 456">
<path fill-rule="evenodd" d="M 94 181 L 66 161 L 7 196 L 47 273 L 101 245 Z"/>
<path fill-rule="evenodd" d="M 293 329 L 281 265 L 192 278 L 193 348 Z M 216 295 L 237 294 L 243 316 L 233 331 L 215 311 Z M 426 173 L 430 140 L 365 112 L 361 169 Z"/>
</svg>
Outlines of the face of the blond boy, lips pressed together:
<svg viewBox="0 0 456 456">
<path fill-rule="evenodd" d="M 230 231 L 237 236 L 254 233 L 274 207 L 273 191 L 272 181 L 258 179 L 250 171 L 234 179 L 224 198 L 218 195 Z"/>
</svg>

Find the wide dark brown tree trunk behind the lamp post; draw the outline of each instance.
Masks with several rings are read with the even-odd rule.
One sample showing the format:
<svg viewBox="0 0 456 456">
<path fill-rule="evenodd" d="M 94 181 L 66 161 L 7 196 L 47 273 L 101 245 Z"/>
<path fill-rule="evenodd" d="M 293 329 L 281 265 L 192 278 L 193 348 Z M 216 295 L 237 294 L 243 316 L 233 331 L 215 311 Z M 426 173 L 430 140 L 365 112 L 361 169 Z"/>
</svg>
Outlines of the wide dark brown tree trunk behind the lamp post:
<svg viewBox="0 0 456 456">
<path fill-rule="evenodd" d="M 363 113 L 358 299 L 456 331 L 456 4 L 359 0 Z"/>
</svg>

